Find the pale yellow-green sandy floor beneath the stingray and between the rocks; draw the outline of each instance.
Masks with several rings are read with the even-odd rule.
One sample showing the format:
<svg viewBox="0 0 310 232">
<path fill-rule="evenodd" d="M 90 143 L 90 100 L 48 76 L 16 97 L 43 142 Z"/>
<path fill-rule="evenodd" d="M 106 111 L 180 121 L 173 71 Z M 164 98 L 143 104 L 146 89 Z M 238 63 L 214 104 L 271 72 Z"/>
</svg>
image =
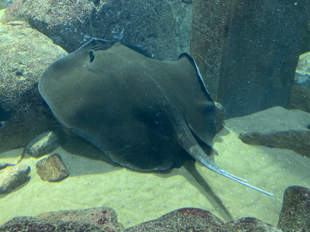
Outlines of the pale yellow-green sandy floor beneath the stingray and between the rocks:
<svg viewBox="0 0 310 232">
<path fill-rule="evenodd" d="M 86 153 L 88 157 L 102 154 L 88 143 L 73 143 L 78 154 L 62 147 L 55 150 L 70 173 L 58 183 L 40 179 L 35 168 L 39 159 L 25 157 L 22 162 L 31 167 L 31 179 L 15 191 L 0 195 L 0 225 L 18 216 L 111 207 L 127 228 L 178 208 L 196 207 L 223 221 L 255 217 L 276 226 L 284 189 L 292 185 L 310 188 L 310 159 L 286 149 L 244 144 L 238 139 L 240 132 L 234 127 L 234 120 L 226 121 L 226 127 L 213 140 L 219 152 L 214 157 L 215 163 L 272 192 L 274 197 L 215 174 L 197 162 L 187 161 L 180 169 L 161 173 L 141 173 L 87 158 Z M 21 152 L 22 149 L 17 149 L 2 153 L 0 161 L 18 157 Z"/>
</svg>

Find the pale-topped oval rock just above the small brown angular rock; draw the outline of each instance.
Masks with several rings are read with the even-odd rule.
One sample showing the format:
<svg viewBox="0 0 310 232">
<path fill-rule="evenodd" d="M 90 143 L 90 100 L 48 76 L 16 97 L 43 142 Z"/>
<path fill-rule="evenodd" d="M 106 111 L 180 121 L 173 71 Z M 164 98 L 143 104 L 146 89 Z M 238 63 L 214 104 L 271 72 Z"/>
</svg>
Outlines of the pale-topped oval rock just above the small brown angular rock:
<svg viewBox="0 0 310 232">
<path fill-rule="evenodd" d="M 53 131 L 47 131 L 36 138 L 25 147 L 24 153 L 38 158 L 51 153 L 59 146 L 58 138 Z"/>
</svg>

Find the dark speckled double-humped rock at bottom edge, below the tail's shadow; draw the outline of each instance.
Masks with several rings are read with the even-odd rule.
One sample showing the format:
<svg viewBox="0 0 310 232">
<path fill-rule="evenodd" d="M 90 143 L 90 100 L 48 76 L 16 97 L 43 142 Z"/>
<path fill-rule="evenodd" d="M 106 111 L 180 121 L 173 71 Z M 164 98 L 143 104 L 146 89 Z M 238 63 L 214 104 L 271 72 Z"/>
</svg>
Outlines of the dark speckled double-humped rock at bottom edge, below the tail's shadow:
<svg viewBox="0 0 310 232">
<path fill-rule="evenodd" d="M 241 218 L 227 223 L 212 215 L 209 211 L 199 208 L 181 208 L 164 216 L 130 227 L 126 232 L 174 232 L 174 231 L 255 231 L 255 232 L 276 232 L 272 225 L 264 223 L 252 217 Z"/>
</svg>

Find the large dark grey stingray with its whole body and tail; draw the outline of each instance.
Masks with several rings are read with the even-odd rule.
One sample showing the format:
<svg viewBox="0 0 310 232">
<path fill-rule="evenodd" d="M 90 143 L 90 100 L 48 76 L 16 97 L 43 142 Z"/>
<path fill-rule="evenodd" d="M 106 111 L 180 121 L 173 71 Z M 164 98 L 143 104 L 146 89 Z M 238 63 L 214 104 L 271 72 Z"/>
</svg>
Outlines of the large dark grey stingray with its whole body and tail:
<svg viewBox="0 0 310 232">
<path fill-rule="evenodd" d="M 202 148 L 212 147 L 216 108 L 187 53 L 158 61 L 93 38 L 52 63 L 38 88 L 64 127 L 122 166 L 167 170 L 185 150 L 208 169 L 273 196 L 221 169 Z"/>
</svg>

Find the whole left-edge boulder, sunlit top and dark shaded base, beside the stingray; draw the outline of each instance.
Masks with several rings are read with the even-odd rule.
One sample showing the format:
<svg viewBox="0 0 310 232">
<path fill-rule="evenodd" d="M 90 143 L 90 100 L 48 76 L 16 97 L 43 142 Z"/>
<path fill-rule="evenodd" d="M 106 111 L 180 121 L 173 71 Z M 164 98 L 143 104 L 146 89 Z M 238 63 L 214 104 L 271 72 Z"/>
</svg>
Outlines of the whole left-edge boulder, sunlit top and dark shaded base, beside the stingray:
<svg viewBox="0 0 310 232">
<path fill-rule="evenodd" d="M 42 72 L 67 53 L 24 22 L 0 26 L 0 153 L 59 128 L 38 92 Z M 30 138 L 30 139 L 29 139 Z"/>
</svg>

